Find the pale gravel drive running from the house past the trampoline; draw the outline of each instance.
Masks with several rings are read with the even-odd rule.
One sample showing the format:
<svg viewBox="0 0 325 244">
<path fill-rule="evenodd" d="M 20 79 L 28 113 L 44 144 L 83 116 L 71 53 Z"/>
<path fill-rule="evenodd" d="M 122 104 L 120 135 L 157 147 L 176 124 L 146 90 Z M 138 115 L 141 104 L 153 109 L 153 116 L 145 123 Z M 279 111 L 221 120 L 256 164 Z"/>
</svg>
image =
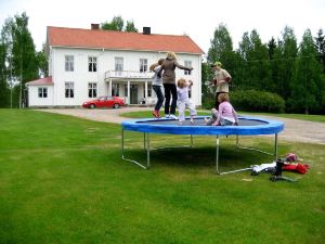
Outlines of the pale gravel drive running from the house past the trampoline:
<svg viewBox="0 0 325 244">
<path fill-rule="evenodd" d="M 122 107 L 118 110 L 84 110 L 84 108 L 46 108 L 38 110 L 49 113 L 58 113 L 65 115 L 73 115 L 90 120 L 117 123 L 128 118 L 120 117 L 119 114 L 135 111 L 148 111 L 148 107 Z M 325 144 L 325 124 L 313 123 L 290 118 L 278 118 L 272 116 L 260 116 L 265 118 L 275 118 L 285 124 L 285 129 L 278 137 L 280 140 L 294 141 L 294 142 L 310 142 L 317 144 Z"/>
</svg>

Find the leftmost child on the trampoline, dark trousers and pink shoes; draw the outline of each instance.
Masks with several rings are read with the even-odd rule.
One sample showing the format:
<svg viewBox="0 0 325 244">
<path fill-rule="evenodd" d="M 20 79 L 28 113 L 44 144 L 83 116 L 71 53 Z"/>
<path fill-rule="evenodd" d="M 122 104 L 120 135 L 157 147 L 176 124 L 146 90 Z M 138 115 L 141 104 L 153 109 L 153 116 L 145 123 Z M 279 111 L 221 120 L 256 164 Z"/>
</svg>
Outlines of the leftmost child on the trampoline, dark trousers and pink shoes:
<svg viewBox="0 0 325 244">
<path fill-rule="evenodd" d="M 154 72 L 154 75 L 153 75 L 153 89 L 154 89 L 154 91 L 156 92 L 156 95 L 157 95 L 157 102 L 156 102 L 156 105 L 155 105 L 155 110 L 153 112 L 153 115 L 156 118 L 160 118 L 159 111 L 160 111 L 160 107 L 161 107 L 161 105 L 164 103 L 164 100 L 165 100 L 162 91 L 161 91 L 162 78 L 161 78 L 161 76 L 160 77 L 157 76 L 158 72 L 160 70 L 162 62 L 164 62 L 164 59 L 160 59 L 158 61 L 158 63 L 152 64 L 152 66 L 150 67 L 150 70 Z"/>
</svg>

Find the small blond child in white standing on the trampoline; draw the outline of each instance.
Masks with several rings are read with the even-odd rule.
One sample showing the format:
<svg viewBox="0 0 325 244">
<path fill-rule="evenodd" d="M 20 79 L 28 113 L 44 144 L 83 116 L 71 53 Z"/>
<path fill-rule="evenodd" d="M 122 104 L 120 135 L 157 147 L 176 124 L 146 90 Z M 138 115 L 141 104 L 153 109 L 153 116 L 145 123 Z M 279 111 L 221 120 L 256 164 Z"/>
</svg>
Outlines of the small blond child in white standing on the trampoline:
<svg viewBox="0 0 325 244">
<path fill-rule="evenodd" d="M 178 80 L 178 107 L 179 107 L 179 125 L 182 125 L 185 121 L 185 108 L 190 108 L 191 114 L 191 124 L 194 123 L 193 117 L 196 115 L 196 110 L 194 103 L 188 98 L 188 91 L 193 86 L 193 81 L 186 81 L 184 78 Z"/>
</svg>

